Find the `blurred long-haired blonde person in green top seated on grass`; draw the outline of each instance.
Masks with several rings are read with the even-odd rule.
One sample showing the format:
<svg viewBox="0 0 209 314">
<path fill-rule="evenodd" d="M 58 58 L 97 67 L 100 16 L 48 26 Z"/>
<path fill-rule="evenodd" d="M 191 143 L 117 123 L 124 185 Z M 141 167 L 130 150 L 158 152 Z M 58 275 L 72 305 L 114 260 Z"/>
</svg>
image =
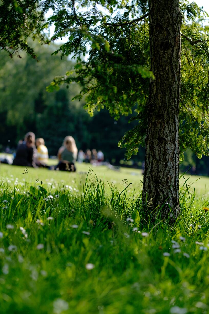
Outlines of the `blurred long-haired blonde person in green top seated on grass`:
<svg viewBox="0 0 209 314">
<path fill-rule="evenodd" d="M 55 169 L 61 171 L 76 171 L 75 161 L 77 158 L 78 149 L 76 142 L 72 136 L 66 136 L 63 141 L 63 146 L 58 150 L 59 164 Z"/>
</svg>

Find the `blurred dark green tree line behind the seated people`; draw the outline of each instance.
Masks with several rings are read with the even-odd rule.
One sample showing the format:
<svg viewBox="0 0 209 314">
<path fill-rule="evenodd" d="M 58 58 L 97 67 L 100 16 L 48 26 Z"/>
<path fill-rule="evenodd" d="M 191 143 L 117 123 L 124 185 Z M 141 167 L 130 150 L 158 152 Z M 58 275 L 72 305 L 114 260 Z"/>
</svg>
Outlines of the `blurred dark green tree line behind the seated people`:
<svg viewBox="0 0 209 314">
<path fill-rule="evenodd" d="M 12 61 L 0 54 L 0 149 L 15 149 L 18 140 L 30 130 L 45 139 L 50 155 L 56 155 L 64 137 L 72 135 L 78 149 L 102 149 L 107 160 L 119 164 L 125 149 L 117 144 L 124 129 L 129 129 L 128 117 L 115 121 L 107 110 L 90 117 L 83 109 L 84 101 L 71 101 L 79 91 L 76 84 L 46 92 L 55 73 L 72 67 L 71 61 L 50 56 L 55 48 L 39 47 L 38 63 L 24 54 Z M 135 160 L 143 159 L 141 149 Z"/>
</svg>

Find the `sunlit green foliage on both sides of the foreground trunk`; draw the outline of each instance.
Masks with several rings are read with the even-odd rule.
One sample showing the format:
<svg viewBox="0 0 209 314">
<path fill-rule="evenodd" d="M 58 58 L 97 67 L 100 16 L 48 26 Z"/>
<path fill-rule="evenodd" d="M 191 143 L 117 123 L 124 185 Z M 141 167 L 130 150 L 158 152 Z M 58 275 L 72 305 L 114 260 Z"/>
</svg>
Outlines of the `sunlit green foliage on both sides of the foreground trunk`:
<svg viewBox="0 0 209 314">
<path fill-rule="evenodd" d="M 51 40 L 68 38 L 54 54 L 76 60 L 74 70 L 55 77 L 48 91 L 77 82 L 81 92 L 74 98 L 86 96 L 85 107 L 90 115 L 106 107 L 117 120 L 134 111 L 138 124 L 119 142 L 130 158 L 144 142 L 149 79 L 154 79 L 150 72 L 148 2 L 46 0 L 36 2 L 38 8 L 39 4 L 42 13 L 52 9 L 48 26 L 55 25 L 55 34 Z M 180 2 L 180 9 L 180 151 L 190 147 L 201 157 L 208 155 L 209 140 L 209 28 L 202 24 L 208 15 L 194 2 Z M 38 30 L 40 34 L 43 31 Z"/>
</svg>

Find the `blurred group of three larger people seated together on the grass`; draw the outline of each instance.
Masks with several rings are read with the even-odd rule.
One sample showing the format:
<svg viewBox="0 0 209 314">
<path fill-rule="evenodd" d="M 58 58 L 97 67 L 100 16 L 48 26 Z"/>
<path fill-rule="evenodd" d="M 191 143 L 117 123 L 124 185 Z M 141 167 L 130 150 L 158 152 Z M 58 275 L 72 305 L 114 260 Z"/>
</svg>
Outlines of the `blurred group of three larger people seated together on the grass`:
<svg viewBox="0 0 209 314">
<path fill-rule="evenodd" d="M 35 134 L 28 132 L 25 134 L 24 141 L 18 143 L 16 156 L 13 165 L 26 167 L 45 167 L 61 171 L 76 171 L 75 160 L 78 149 L 72 136 L 66 136 L 63 146 L 58 150 L 59 163 L 56 166 L 48 166 L 48 149 L 44 145 L 43 138 L 35 140 Z"/>
</svg>

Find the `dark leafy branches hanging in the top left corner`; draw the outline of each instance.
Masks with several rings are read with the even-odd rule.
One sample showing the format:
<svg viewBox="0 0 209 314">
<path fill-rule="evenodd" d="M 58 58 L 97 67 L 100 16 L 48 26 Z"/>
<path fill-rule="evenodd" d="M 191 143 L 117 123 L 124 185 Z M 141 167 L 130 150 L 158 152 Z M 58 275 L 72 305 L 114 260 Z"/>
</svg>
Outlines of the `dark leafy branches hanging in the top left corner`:
<svg viewBox="0 0 209 314">
<path fill-rule="evenodd" d="M 44 28 L 47 27 L 42 4 L 36 0 L 0 0 L 0 50 L 10 57 L 26 51 L 34 59 L 34 50 L 28 37 L 47 43 Z"/>
</svg>

